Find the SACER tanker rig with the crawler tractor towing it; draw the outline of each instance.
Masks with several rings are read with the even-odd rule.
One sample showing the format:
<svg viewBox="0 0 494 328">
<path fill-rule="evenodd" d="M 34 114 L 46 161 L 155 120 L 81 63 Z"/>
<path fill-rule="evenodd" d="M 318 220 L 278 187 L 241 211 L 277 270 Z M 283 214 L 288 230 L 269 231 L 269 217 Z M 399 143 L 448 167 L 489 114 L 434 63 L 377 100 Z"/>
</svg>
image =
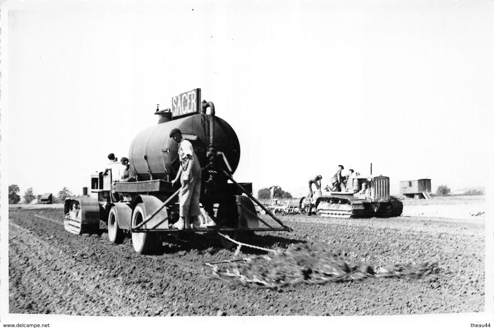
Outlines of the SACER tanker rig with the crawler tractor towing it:
<svg viewBox="0 0 494 328">
<path fill-rule="evenodd" d="M 231 239 L 255 231 L 291 231 L 252 196 L 251 183 L 233 179 L 240 161 L 237 135 L 216 116 L 212 102 L 200 99 L 201 89 L 194 89 L 173 97 L 171 108 L 157 108 L 158 124 L 142 130 L 130 144 L 128 181 L 113 182 L 111 171 L 92 174 L 90 192 L 65 200 L 65 229 L 73 234 L 98 233 L 104 221 L 112 243 L 130 236 L 136 252 L 156 252 L 167 234 L 177 233 L 171 225 L 179 218 L 179 186 L 171 181 L 179 168 L 178 143 L 169 132 L 178 128 L 192 143 L 202 168 L 200 203 L 214 222 L 206 229 L 227 236 L 220 234 L 223 246 L 231 248 Z M 270 218 L 259 218 L 252 202 Z"/>
</svg>

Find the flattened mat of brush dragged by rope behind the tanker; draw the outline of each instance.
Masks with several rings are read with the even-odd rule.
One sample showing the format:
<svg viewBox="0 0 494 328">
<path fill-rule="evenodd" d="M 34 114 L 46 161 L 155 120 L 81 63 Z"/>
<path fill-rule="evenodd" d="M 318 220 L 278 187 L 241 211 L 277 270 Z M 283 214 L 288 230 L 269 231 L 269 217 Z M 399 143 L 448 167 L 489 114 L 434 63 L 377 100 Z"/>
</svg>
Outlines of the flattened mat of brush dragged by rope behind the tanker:
<svg viewBox="0 0 494 328">
<path fill-rule="evenodd" d="M 303 263 L 300 259 L 303 258 Z M 220 268 L 219 265 L 228 265 Z M 280 289 L 298 284 L 359 281 L 371 278 L 405 277 L 434 281 L 441 272 L 437 263 L 395 264 L 388 268 L 347 261 L 326 250 L 311 250 L 306 244 L 291 245 L 272 256 L 205 263 L 218 279 L 244 286 Z"/>
</svg>

